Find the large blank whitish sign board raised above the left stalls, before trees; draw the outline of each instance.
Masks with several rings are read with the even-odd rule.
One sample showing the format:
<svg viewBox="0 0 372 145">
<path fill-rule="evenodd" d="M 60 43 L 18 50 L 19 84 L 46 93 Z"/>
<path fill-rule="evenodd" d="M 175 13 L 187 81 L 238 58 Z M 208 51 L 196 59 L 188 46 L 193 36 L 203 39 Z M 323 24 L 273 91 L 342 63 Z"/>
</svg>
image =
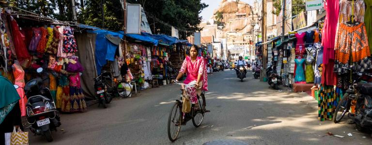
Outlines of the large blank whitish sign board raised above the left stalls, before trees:
<svg viewBox="0 0 372 145">
<path fill-rule="evenodd" d="M 141 5 L 126 4 L 126 33 L 141 33 Z"/>
</svg>

